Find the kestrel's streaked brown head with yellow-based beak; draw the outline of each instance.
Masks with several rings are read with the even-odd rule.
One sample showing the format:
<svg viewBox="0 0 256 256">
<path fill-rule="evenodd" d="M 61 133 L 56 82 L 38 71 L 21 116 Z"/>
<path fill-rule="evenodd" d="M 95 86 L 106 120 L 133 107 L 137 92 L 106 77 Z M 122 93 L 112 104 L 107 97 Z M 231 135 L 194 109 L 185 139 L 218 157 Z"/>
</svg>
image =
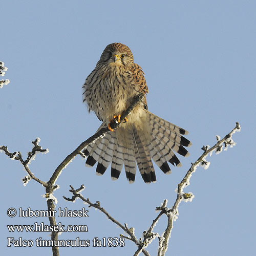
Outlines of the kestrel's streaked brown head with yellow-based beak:
<svg viewBox="0 0 256 256">
<path fill-rule="evenodd" d="M 106 46 L 100 56 L 99 62 L 119 67 L 129 67 L 134 63 L 130 48 L 120 42 L 114 42 Z"/>
</svg>

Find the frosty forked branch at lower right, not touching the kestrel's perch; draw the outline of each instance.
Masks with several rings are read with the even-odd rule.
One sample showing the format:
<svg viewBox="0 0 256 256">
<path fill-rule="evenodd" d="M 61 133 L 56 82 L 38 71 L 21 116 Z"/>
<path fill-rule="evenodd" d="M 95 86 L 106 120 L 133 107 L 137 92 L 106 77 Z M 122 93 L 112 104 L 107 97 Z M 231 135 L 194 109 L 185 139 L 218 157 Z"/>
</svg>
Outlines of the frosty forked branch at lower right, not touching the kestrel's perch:
<svg viewBox="0 0 256 256">
<path fill-rule="evenodd" d="M 216 154 L 219 154 L 220 152 L 220 148 L 223 147 L 223 145 L 225 147 L 227 146 L 233 146 L 235 143 L 232 140 L 232 134 L 234 134 L 235 132 L 240 131 L 240 125 L 237 122 L 236 123 L 236 127 L 234 127 L 234 129 L 228 133 L 223 139 L 220 139 L 219 136 L 217 136 L 217 143 L 212 146 L 203 146 L 202 150 L 204 151 L 203 154 L 194 162 L 191 163 L 191 167 L 189 168 L 189 170 L 187 171 L 185 177 L 182 179 L 182 181 L 180 182 L 180 184 L 178 184 L 178 189 L 177 189 L 177 198 L 176 201 L 174 203 L 174 206 L 172 208 L 167 208 L 167 200 L 165 199 L 162 203 L 161 206 L 156 207 L 156 210 L 160 210 L 158 216 L 153 220 L 150 228 L 148 228 L 147 231 L 143 232 L 143 239 L 140 238 L 139 241 L 137 240 L 137 238 L 135 237 L 134 234 L 134 228 L 129 228 L 127 226 L 127 224 L 122 225 L 120 222 L 118 222 L 117 220 L 115 220 L 112 216 L 110 216 L 110 214 L 103 208 L 100 206 L 99 201 L 96 201 L 96 203 L 92 203 L 89 198 L 86 199 L 84 198 L 80 192 L 84 189 L 84 186 L 81 185 L 80 188 L 78 189 L 74 189 L 72 186 L 71 187 L 71 193 L 73 194 L 72 198 L 65 198 L 68 201 L 74 201 L 77 198 L 81 199 L 82 201 L 86 202 L 89 204 L 89 207 L 94 207 L 99 209 L 101 212 L 103 212 L 104 215 L 106 215 L 113 223 L 117 224 L 123 231 L 125 231 L 129 236 L 124 236 L 123 234 L 120 234 L 120 237 L 123 237 L 127 240 L 131 240 L 133 241 L 137 246 L 138 249 L 136 250 L 136 252 L 134 253 L 134 256 L 137 256 L 140 254 L 140 252 L 143 252 L 144 255 L 150 255 L 145 248 L 148 246 L 148 244 L 150 244 L 155 238 L 159 239 L 159 248 L 158 248 L 158 256 L 164 256 L 165 252 L 168 248 L 168 242 L 170 239 L 170 233 L 172 232 L 172 228 L 173 228 L 173 222 L 177 219 L 178 216 L 178 207 L 179 204 L 182 200 L 184 201 L 191 201 L 194 198 L 194 195 L 191 193 L 183 193 L 183 188 L 185 188 L 186 186 L 189 185 L 189 179 L 191 177 L 191 175 L 196 171 L 196 168 L 198 165 L 206 165 L 208 166 L 206 161 L 206 157 L 208 154 L 211 154 L 212 152 L 216 151 Z M 162 215 L 166 215 L 167 216 L 167 227 L 164 231 L 164 233 L 162 234 L 162 236 L 159 236 L 158 233 L 154 233 L 153 229 L 156 226 L 158 220 L 161 218 Z"/>
</svg>

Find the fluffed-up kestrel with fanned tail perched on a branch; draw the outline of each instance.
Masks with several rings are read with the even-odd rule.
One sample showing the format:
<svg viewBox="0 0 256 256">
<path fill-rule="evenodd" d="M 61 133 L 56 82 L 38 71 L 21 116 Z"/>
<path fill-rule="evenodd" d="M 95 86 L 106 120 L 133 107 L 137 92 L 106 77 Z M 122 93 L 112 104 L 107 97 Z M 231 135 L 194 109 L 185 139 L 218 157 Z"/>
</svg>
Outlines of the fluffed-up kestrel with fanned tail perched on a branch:
<svg viewBox="0 0 256 256">
<path fill-rule="evenodd" d="M 134 63 L 129 47 L 114 42 L 106 46 L 95 69 L 83 85 L 83 101 L 88 109 L 94 111 L 102 121 L 99 129 L 108 125 L 110 120 L 119 120 L 120 115 L 139 92 L 148 92 L 144 72 Z M 124 164 L 126 178 L 135 181 L 136 163 L 146 183 L 156 181 L 152 160 L 165 173 L 171 170 L 167 162 L 181 166 L 174 152 L 187 157 L 184 148 L 191 145 L 182 135 L 188 132 L 181 127 L 165 121 L 147 110 L 145 96 L 119 128 L 103 138 L 99 138 L 84 150 L 88 156 L 86 165 L 96 162 L 96 174 L 103 175 L 111 164 L 111 177 L 117 180 Z"/>
</svg>

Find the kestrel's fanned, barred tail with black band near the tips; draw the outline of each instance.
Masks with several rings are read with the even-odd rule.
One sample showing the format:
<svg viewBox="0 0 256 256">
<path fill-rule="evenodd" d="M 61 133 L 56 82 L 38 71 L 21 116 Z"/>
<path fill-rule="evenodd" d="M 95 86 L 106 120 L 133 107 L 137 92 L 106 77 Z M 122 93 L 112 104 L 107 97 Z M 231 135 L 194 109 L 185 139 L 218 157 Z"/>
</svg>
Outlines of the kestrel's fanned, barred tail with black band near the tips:
<svg viewBox="0 0 256 256">
<path fill-rule="evenodd" d="M 156 181 L 152 159 L 165 174 L 172 171 L 167 162 L 181 166 L 174 152 L 187 157 L 185 147 L 191 142 L 182 135 L 188 132 L 181 127 L 143 110 L 141 120 L 121 125 L 118 130 L 106 133 L 88 145 L 82 153 L 88 156 L 86 165 L 97 161 L 96 174 L 103 175 L 111 164 L 111 178 L 117 180 L 124 164 L 125 174 L 130 183 L 135 181 L 136 163 L 145 183 Z M 101 127 L 105 126 L 103 123 Z"/>
</svg>

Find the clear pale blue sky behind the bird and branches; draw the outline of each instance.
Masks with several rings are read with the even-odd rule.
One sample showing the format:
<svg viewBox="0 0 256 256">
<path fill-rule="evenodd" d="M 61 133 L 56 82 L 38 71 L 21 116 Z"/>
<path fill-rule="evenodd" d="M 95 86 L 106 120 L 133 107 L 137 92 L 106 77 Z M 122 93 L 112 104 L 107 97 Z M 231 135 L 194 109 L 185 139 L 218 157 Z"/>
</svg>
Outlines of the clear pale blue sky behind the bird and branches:
<svg viewBox="0 0 256 256">
<path fill-rule="evenodd" d="M 190 133 L 190 156 L 165 176 L 156 166 L 157 182 L 144 184 L 137 173 L 129 184 L 110 169 L 97 177 L 95 168 L 77 157 L 63 170 L 55 192 L 58 207 L 79 210 L 81 201 L 66 202 L 69 185 L 86 186 L 84 197 L 101 205 L 139 238 L 156 217 L 164 199 L 172 206 L 177 184 L 201 147 L 216 142 L 239 121 L 237 145 L 207 158 L 184 191 L 195 195 L 182 203 L 166 255 L 254 255 L 255 242 L 255 1 L 5 1 L 1 4 L 0 60 L 10 83 L 0 89 L 0 144 L 10 151 L 31 150 L 31 141 L 49 154 L 37 155 L 30 167 L 49 180 L 57 165 L 100 125 L 82 104 L 82 84 L 111 42 L 130 47 L 145 72 L 148 108 Z M 1 251 L 8 255 L 45 255 L 50 248 L 8 248 L 7 237 L 50 239 L 47 233 L 9 233 L 6 225 L 48 223 L 45 218 L 9 218 L 9 207 L 46 209 L 44 189 L 34 181 L 24 187 L 23 167 L 0 155 L 3 195 Z M 63 225 L 87 224 L 89 232 L 65 233 L 59 239 L 118 237 L 122 230 L 98 210 L 89 218 L 58 218 Z M 162 233 L 166 218 L 156 232 Z M 157 241 L 148 248 L 156 255 Z M 83 251 L 81 251 L 83 250 Z M 136 246 L 61 248 L 60 255 L 133 255 Z"/>
</svg>

